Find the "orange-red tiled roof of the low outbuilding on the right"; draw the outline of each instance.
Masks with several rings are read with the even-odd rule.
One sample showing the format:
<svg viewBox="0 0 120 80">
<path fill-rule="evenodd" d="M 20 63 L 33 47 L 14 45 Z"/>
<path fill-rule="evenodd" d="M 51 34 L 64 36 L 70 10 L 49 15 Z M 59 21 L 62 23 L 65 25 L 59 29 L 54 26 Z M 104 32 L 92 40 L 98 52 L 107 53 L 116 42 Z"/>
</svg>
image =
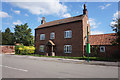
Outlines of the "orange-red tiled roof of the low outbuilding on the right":
<svg viewBox="0 0 120 80">
<path fill-rule="evenodd" d="M 90 45 L 112 45 L 112 41 L 116 39 L 115 33 L 90 35 Z"/>
</svg>

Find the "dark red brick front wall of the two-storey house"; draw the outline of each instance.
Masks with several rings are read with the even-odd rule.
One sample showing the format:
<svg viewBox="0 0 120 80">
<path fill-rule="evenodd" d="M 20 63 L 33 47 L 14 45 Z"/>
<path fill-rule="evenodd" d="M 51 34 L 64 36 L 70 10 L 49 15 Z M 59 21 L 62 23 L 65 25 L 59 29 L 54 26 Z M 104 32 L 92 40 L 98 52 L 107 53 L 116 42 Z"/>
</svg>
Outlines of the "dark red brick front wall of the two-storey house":
<svg viewBox="0 0 120 80">
<path fill-rule="evenodd" d="M 65 39 L 64 31 L 72 30 L 72 38 Z M 82 21 L 56 25 L 49 28 L 42 28 L 35 30 L 35 46 L 37 53 L 45 54 L 39 52 L 39 45 L 45 45 L 50 39 L 50 33 L 55 32 L 55 39 L 53 42 L 56 45 L 56 56 L 82 56 L 83 54 L 83 30 Z M 45 40 L 40 40 L 40 34 L 45 33 Z M 72 45 L 72 53 L 64 53 L 64 45 Z"/>
</svg>

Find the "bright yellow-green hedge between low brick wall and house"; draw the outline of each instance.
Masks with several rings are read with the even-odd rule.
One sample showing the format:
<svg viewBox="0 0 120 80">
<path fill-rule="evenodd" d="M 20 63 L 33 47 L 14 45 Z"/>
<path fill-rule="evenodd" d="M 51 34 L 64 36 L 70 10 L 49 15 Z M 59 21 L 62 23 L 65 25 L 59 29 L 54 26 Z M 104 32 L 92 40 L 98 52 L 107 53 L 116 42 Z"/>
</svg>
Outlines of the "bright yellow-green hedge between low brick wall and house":
<svg viewBox="0 0 120 80">
<path fill-rule="evenodd" d="M 15 54 L 32 54 L 34 52 L 35 52 L 34 46 L 24 46 L 24 45 L 15 46 Z"/>
</svg>

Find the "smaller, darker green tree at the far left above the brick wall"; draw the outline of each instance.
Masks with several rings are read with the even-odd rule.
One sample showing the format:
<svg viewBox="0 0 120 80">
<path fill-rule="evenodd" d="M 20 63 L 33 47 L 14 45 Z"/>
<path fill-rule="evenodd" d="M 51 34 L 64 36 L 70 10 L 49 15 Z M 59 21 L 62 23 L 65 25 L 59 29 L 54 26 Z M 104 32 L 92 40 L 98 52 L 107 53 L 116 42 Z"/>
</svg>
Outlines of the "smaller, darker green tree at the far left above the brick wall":
<svg viewBox="0 0 120 80">
<path fill-rule="evenodd" d="M 6 28 L 5 32 L 2 32 L 2 44 L 3 45 L 14 45 L 14 35 L 10 31 L 10 28 Z"/>
</svg>

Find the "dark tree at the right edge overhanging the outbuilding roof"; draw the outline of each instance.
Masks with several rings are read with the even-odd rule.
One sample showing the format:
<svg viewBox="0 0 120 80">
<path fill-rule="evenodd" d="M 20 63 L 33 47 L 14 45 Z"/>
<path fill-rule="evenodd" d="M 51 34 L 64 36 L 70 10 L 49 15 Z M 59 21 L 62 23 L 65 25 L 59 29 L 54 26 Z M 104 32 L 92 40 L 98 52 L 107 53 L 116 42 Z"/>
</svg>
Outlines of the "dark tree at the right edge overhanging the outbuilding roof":
<svg viewBox="0 0 120 80">
<path fill-rule="evenodd" d="M 117 38 L 112 43 L 120 45 L 120 18 L 113 20 L 113 23 L 111 27 L 115 31 Z"/>
</svg>

